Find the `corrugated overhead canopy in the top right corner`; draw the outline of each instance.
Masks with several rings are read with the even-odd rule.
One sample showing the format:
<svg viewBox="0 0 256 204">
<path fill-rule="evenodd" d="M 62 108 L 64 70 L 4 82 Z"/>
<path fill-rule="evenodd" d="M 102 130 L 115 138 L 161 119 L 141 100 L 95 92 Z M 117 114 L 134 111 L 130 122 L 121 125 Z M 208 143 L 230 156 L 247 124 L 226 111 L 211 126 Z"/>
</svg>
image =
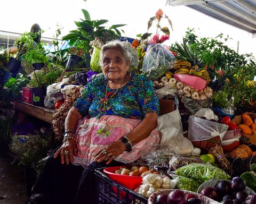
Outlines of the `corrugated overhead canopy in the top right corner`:
<svg viewBox="0 0 256 204">
<path fill-rule="evenodd" d="M 256 0 L 169 0 L 171 6 L 188 6 L 250 33 L 256 33 Z"/>
</svg>

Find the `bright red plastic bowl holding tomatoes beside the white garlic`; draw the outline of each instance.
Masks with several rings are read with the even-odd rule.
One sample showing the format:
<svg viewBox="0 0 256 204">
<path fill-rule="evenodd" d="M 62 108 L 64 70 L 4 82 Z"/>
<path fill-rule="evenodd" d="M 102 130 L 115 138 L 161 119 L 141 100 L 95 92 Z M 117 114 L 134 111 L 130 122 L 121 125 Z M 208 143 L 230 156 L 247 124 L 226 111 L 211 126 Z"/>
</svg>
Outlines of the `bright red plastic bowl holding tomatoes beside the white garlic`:
<svg viewBox="0 0 256 204">
<path fill-rule="evenodd" d="M 124 167 L 124 166 L 122 166 Z M 126 176 L 115 174 L 115 171 L 120 169 L 120 166 L 107 167 L 103 169 L 103 172 L 109 176 L 109 178 L 118 184 L 123 185 L 127 189 L 134 190 L 142 183 L 141 176 Z"/>
</svg>

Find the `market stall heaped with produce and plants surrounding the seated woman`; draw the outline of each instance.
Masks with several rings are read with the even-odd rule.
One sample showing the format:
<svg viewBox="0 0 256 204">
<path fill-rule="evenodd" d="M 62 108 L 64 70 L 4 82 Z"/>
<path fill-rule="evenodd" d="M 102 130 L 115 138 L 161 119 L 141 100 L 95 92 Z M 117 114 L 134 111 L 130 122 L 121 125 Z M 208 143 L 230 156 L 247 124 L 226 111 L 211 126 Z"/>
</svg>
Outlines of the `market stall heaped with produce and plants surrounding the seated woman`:
<svg viewBox="0 0 256 204">
<path fill-rule="evenodd" d="M 57 51 L 46 53 L 33 40 L 38 33 L 29 32 L 17 41 L 19 49 L 10 60 L 5 50 L 0 54 L 2 75 L 9 75 L 1 81 L 5 103 L 11 98 L 19 122 L 21 113 L 29 114 L 51 123 L 52 129 L 47 137 L 13 132 L 5 138 L 12 141 L 16 161 L 37 173 L 42 170 L 46 149 L 57 147 L 67 132 L 69 109 L 101 72 L 101 47 L 118 38 L 137 51 L 139 65 L 132 71 L 154 86 L 161 142 L 141 151 L 132 164 L 97 169 L 97 203 L 256 203 L 255 58 L 228 48 L 219 40 L 222 35 L 198 39 L 193 29 L 182 42 L 167 45 L 172 24 L 162 10 L 148 24 L 156 21 L 161 34 L 145 33 L 138 39 L 122 38 L 117 29 L 122 24 L 107 29 L 102 27 L 107 20 L 91 21 L 82 11 L 85 20 L 63 37 L 69 40 L 67 50 L 58 49 L 54 41 Z M 169 28 L 159 26 L 163 18 Z M 49 146 L 34 152 L 42 153 L 40 160 L 28 162 L 22 156 L 35 140 Z"/>
</svg>

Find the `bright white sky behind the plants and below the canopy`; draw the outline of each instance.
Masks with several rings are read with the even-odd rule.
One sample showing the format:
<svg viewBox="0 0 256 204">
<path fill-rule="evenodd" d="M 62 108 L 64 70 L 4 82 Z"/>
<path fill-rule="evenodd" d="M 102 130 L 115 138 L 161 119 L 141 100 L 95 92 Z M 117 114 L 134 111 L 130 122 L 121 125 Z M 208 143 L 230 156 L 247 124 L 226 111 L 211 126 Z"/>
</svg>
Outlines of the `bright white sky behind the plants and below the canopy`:
<svg viewBox="0 0 256 204">
<path fill-rule="evenodd" d="M 216 37 L 220 33 L 225 37 L 229 35 L 232 38 L 227 41 L 229 47 L 237 51 L 239 45 L 239 54 L 253 53 L 256 57 L 256 38 L 252 38 L 250 33 L 186 6 L 166 5 L 166 0 L 2 0 L 1 7 L 2 31 L 23 33 L 38 23 L 45 31 L 43 37 L 53 37 L 59 24 L 63 27 L 63 36 L 69 30 L 76 29 L 74 21 L 83 18 L 81 9 L 85 8 L 92 20 L 109 20 L 107 26 L 127 24 L 122 27 L 125 31 L 123 36 L 132 38 L 147 32 L 149 18 L 155 15 L 158 8 L 162 8 L 173 23 L 170 43 L 180 42 L 189 27 L 195 28 L 199 37 Z M 149 31 L 155 33 L 156 28 Z"/>
</svg>

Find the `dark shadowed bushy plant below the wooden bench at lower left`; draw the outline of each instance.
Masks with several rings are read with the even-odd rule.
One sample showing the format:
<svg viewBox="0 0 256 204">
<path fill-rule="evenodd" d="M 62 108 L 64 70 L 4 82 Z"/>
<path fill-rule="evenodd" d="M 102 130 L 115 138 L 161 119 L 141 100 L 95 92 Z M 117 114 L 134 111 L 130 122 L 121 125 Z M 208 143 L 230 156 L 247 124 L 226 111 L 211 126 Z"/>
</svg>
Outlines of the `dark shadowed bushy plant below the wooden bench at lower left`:
<svg viewBox="0 0 256 204">
<path fill-rule="evenodd" d="M 13 163 L 32 166 L 43 157 L 51 148 L 51 135 L 13 135 L 10 145 Z"/>
</svg>

